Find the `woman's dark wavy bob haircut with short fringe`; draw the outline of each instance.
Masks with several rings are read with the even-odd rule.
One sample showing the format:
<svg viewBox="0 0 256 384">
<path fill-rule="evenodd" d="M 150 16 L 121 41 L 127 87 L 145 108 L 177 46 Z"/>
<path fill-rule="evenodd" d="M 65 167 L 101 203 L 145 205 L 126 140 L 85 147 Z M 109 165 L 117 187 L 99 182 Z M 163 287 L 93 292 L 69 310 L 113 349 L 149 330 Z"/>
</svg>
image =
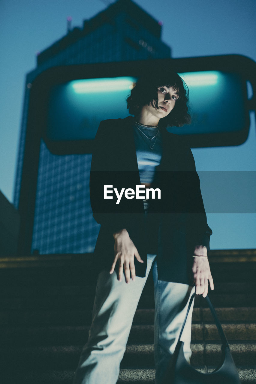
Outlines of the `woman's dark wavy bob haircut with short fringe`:
<svg viewBox="0 0 256 384">
<path fill-rule="evenodd" d="M 176 72 L 160 75 L 148 73 L 141 76 L 126 98 L 129 113 L 137 116 L 145 105 L 151 105 L 155 109 L 159 109 L 157 92 L 158 88 L 163 86 L 172 87 L 179 97 L 173 110 L 165 118 L 160 119 L 159 125 L 163 127 L 182 127 L 184 124 L 190 124 L 191 117 L 188 114 L 187 105 L 188 87 Z"/>
</svg>

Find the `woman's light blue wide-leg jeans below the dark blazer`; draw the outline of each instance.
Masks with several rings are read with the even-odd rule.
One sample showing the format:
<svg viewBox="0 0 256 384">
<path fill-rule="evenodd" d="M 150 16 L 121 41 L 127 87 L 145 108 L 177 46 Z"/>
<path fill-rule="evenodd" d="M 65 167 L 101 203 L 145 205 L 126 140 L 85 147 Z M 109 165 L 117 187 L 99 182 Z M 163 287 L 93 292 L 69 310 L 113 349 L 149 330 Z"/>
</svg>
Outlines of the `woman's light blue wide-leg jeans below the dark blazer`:
<svg viewBox="0 0 256 384">
<path fill-rule="evenodd" d="M 93 306 L 93 321 L 88 342 L 81 353 L 74 384 L 115 384 L 120 362 L 125 353 L 141 292 L 153 264 L 155 286 L 155 367 L 156 384 L 161 384 L 173 354 L 194 287 L 158 280 L 156 255 L 148 254 L 145 277 L 135 281 L 118 281 L 116 272 L 103 271 L 98 276 Z M 190 361 L 191 306 L 181 340 L 184 354 Z"/>
</svg>

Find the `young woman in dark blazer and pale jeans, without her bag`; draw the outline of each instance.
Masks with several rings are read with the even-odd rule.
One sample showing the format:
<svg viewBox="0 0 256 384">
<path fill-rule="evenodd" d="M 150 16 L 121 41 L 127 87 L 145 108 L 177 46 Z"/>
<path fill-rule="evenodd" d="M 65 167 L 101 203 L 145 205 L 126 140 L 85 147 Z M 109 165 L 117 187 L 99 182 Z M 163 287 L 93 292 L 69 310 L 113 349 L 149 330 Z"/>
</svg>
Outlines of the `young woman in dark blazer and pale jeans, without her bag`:
<svg viewBox="0 0 256 384">
<path fill-rule="evenodd" d="M 190 148 L 167 126 L 190 123 L 187 88 L 176 73 L 140 78 L 127 98 L 132 116 L 102 121 L 90 175 L 101 224 L 93 321 L 75 384 L 115 384 L 133 316 L 152 267 L 156 384 L 162 383 L 190 296 L 213 289 L 206 222 Z M 145 189 L 145 190 L 144 190 Z M 148 193 L 146 193 L 148 191 Z M 193 287 L 195 283 L 195 287 Z M 191 316 L 183 332 L 191 356 Z"/>
</svg>

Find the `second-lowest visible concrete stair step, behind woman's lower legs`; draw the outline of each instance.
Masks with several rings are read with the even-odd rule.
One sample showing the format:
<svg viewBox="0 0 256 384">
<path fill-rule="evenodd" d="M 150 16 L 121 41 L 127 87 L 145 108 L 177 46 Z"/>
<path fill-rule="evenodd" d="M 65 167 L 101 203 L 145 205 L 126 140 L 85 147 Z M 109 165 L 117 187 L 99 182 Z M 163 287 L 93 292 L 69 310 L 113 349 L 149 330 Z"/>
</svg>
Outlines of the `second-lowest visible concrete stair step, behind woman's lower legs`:
<svg viewBox="0 0 256 384">
<path fill-rule="evenodd" d="M 81 346 L 30 347 L 2 350 L 2 366 L 27 371 L 32 369 L 76 369 Z M 191 365 L 204 365 L 203 344 L 191 344 Z M 256 345 L 252 343 L 231 343 L 230 350 L 237 366 L 252 366 L 256 362 Z M 221 362 L 221 345 L 206 344 L 206 362 L 217 366 Z M 154 350 L 152 344 L 128 345 L 121 362 L 122 368 L 153 368 Z"/>
</svg>

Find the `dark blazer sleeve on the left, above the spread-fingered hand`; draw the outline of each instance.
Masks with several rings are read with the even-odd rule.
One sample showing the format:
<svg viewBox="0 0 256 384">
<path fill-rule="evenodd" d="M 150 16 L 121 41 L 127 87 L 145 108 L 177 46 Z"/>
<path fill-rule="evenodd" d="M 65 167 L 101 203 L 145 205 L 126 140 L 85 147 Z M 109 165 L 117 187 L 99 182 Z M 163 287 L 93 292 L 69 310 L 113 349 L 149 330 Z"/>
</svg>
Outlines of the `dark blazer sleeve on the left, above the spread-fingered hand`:
<svg viewBox="0 0 256 384">
<path fill-rule="evenodd" d="M 124 228 L 123 218 L 115 211 L 113 200 L 103 199 L 104 185 L 113 185 L 115 181 L 112 156 L 115 150 L 115 129 L 112 127 L 111 121 L 101 121 L 95 136 L 90 171 L 90 200 L 96 222 L 115 233 Z"/>
</svg>

